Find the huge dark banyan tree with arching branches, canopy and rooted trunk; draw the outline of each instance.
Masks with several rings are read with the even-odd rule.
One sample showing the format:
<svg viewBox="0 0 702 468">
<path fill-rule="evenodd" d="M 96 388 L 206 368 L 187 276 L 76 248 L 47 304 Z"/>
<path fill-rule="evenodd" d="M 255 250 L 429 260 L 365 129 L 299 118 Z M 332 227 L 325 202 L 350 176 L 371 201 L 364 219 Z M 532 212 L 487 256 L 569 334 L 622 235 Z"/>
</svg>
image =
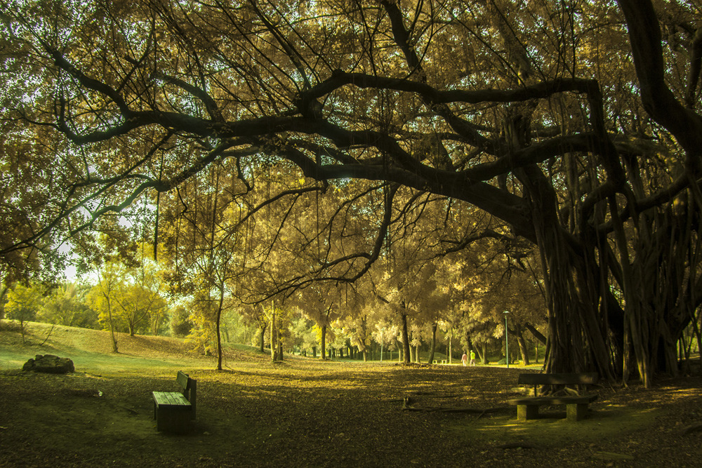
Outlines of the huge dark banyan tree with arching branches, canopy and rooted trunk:
<svg viewBox="0 0 702 468">
<path fill-rule="evenodd" d="M 541 256 L 546 368 L 649 385 L 675 373 L 700 302 L 701 15 L 673 0 L 2 0 L 4 274 L 208 166 L 234 161 L 249 187 L 279 161 L 307 187 L 386 182 L 386 199 L 410 187 L 502 220 Z M 382 239 L 348 259 L 376 260 Z"/>
</svg>

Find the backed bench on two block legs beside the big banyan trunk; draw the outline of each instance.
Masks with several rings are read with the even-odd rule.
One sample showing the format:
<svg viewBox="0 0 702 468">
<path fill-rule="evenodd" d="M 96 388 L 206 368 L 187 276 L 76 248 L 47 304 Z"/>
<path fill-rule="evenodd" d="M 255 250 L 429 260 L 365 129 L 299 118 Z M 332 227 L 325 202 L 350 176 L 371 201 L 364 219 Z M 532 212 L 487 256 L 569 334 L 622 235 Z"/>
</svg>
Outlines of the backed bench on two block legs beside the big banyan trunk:
<svg viewBox="0 0 702 468">
<path fill-rule="evenodd" d="M 565 405 L 569 421 L 579 421 L 588 412 L 588 405 L 597 399 L 596 393 L 538 396 L 538 387 L 543 385 L 595 385 L 597 373 L 572 374 L 519 374 L 519 385 L 534 385 L 534 396 L 508 400 L 517 406 L 517 420 L 524 422 L 538 416 L 538 407 L 542 405 Z M 576 392 L 577 393 L 577 392 Z"/>
</svg>

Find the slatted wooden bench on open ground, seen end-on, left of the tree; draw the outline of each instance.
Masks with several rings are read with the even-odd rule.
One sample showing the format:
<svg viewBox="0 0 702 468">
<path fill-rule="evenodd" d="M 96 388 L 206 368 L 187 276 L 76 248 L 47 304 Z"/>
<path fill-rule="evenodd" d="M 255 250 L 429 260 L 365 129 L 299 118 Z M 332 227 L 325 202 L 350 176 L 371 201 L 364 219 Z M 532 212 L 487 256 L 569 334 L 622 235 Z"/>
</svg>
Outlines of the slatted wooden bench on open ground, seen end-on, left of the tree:
<svg viewBox="0 0 702 468">
<path fill-rule="evenodd" d="M 195 420 L 197 380 L 178 370 L 176 383 L 180 392 L 152 392 L 154 419 L 158 431 L 183 434 L 190 430 Z"/>
</svg>

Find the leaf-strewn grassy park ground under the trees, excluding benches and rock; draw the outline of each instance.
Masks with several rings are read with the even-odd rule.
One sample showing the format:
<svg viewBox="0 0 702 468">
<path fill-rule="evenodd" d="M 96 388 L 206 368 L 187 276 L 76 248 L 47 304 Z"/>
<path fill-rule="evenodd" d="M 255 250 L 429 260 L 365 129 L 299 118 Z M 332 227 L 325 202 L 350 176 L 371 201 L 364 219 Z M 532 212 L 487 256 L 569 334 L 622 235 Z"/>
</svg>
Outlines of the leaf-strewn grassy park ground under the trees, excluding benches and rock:
<svg viewBox="0 0 702 468">
<path fill-rule="evenodd" d="M 402 366 L 301 357 L 271 363 L 251 347 L 213 357 L 166 337 L 0 322 L 3 467 L 698 467 L 702 379 L 652 389 L 597 387 L 580 422 L 564 408 L 518 424 L 507 406 L 524 369 Z M 68 375 L 28 373 L 35 354 L 73 359 Z M 287 356 L 286 356 L 287 357 Z M 157 432 L 153 390 L 198 382 L 187 435 Z M 534 369 L 529 369 L 534 371 Z M 409 396 L 410 405 L 405 397 Z"/>
</svg>

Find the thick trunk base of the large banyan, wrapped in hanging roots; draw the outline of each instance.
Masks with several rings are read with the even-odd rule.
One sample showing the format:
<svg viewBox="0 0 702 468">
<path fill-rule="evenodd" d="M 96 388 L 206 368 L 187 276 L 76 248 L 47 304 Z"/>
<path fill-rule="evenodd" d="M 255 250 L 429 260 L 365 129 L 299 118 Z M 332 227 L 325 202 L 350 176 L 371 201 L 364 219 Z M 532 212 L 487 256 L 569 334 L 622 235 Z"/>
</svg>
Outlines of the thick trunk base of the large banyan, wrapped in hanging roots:
<svg viewBox="0 0 702 468">
<path fill-rule="evenodd" d="M 627 221 L 634 229 L 625 229 L 618 218 L 622 203 L 610 196 L 614 238 L 597 239 L 593 233 L 590 238 L 585 232 L 576 239 L 559 226 L 549 188 L 538 183 L 538 175 L 529 175 L 521 180 L 530 185 L 529 193 L 538 194 L 531 199 L 531 215 L 548 305 L 545 370 L 597 371 L 614 380 L 621 369 L 628 380 L 629 364 L 635 362 L 645 387 L 655 373 L 677 374 L 677 340 L 691 320 L 694 291 L 701 283 L 696 269 L 689 268 L 701 256 L 691 228 L 696 204 L 681 215 L 670 207 L 640 213 Z M 623 290 L 624 309 L 611 295 L 613 277 Z"/>
</svg>

